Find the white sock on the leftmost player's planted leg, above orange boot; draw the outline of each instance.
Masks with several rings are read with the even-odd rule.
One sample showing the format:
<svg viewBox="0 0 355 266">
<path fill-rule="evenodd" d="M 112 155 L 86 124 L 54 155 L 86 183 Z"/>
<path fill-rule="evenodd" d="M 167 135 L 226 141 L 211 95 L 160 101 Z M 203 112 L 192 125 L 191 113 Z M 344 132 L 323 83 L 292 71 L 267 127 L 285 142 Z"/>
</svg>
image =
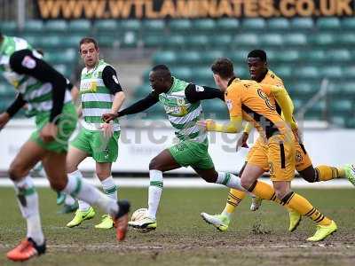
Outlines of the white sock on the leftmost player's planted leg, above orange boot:
<svg viewBox="0 0 355 266">
<path fill-rule="evenodd" d="M 42 245 L 44 236 L 39 215 L 38 194 L 33 180 L 31 177 L 25 176 L 20 182 L 14 182 L 14 185 L 21 214 L 27 222 L 27 237 L 33 239 L 37 245 Z"/>
</svg>

